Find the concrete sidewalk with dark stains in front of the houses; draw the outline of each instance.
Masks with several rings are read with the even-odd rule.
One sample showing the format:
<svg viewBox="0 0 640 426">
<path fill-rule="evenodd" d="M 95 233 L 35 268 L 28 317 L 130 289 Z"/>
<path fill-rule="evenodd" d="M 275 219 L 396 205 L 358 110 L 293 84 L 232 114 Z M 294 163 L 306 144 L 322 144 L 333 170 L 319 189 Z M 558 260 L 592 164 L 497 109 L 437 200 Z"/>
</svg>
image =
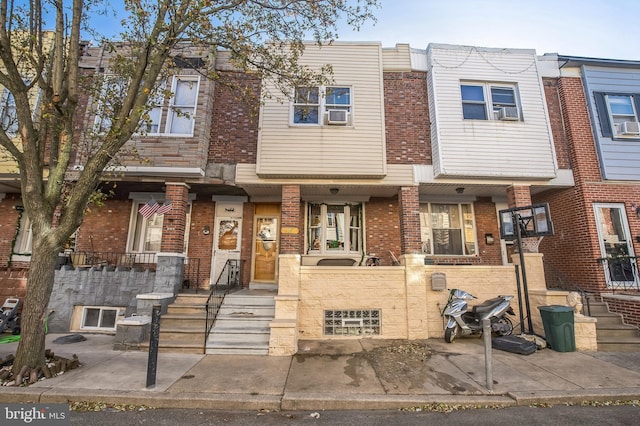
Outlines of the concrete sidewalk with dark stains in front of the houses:
<svg viewBox="0 0 640 426">
<path fill-rule="evenodd" d="M 147 389 L 146 352 L 114 351 L 113 336 L 53 343 L 59 336 L 47 336 L 47 349 L 77 354 L 82 366 L 29 387 L 1 387 L 0 402 L 329 410 L 640 399 L 640 353 L 492 350 L 488 390 L 481 339 L 303 341 L 286 357 L 160 353 L 156 385 Z M 16 347 L 0 345 L 0 357 Z"/>
</svg>

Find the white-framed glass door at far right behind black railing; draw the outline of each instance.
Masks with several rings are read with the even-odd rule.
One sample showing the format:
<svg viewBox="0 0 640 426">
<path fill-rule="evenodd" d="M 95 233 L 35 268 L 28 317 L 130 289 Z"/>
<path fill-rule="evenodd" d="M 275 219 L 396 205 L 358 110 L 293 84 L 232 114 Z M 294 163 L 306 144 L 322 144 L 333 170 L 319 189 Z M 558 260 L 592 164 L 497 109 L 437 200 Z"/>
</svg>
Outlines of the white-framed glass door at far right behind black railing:
<svg viewBox="0 0 640 426">
<path fill-rule="evenodd" d="M 636 287 L 638 270 L 624 204 L 595 204 L 594 208 L 607 287 Z"/>
</svg>

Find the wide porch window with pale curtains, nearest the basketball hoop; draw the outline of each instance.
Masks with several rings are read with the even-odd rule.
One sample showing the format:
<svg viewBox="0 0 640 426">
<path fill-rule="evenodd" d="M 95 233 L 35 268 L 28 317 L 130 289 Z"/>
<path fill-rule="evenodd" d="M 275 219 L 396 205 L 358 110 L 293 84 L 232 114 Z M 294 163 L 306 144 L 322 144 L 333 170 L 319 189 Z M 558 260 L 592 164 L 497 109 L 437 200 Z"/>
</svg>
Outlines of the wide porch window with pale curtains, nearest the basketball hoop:
<svg viewBox="0 0 640 426">
<path fill-rule="evenodd" d="M 422 251 L 428 255 L 472 256 L 476 230 L 471 204 L 420 204 Z"/>
</svg>

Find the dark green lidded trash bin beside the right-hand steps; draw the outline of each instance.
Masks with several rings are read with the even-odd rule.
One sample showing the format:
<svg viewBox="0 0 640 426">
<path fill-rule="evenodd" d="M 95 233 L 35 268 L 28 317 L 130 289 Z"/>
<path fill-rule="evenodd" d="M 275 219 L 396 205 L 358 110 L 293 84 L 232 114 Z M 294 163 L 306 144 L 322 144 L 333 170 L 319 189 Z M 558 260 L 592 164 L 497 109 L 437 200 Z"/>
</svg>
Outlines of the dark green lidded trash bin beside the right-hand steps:
<svg viewBox="0 0 640 426">
<path fill-rule="evenodd" d="M 573 308 L 561 305 L 538 306 L 547 345 L 557 352 L 575 352 Z"/>
</svg>

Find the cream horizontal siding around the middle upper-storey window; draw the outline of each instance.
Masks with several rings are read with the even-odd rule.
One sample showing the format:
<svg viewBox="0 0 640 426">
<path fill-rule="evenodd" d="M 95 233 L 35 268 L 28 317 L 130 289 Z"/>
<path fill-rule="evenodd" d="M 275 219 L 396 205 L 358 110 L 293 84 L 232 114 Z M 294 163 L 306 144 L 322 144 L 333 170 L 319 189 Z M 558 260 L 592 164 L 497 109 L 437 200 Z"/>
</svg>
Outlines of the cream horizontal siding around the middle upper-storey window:
<svg viewBox="0 0 640 426">
<path fill-rule="evenodd" d="M 260 115 L 258 176 L 383 177 L 381 57 L 380 45 L 375 43 L 336 43 L 322 49 L 307 46 L 302 63 L 314 69 L 332 64 L 333 81 L 328 86 L 351 89 L 349 124 L 294 125 L 291 104 L 268 99 Z"/>
</svg>

